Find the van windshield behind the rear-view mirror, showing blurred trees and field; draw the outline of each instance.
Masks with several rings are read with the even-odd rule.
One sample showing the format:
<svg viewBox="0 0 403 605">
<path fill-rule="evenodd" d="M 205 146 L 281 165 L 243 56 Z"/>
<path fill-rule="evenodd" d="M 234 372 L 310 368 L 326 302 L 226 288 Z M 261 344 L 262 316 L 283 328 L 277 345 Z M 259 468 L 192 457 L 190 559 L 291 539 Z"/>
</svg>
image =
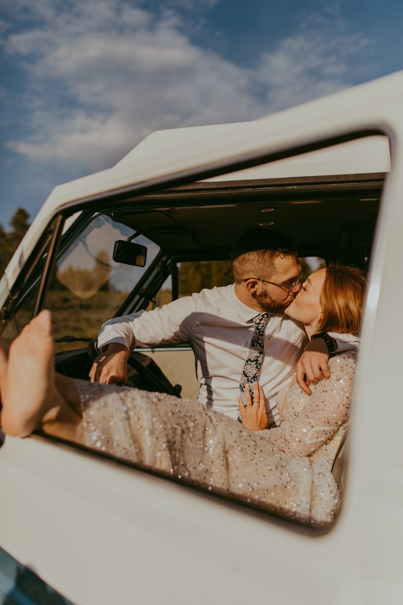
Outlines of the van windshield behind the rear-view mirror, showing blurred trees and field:
<svg viewBox="0 0 403 605">
<path fill-rule="evenodd" d="M 57 352 L 82 348 L 95 338 L 160 251 L 140 235 L 135 242 L 147 247 L 146 266 L 116 263 L 115 241 L 133 234 L 112 218 L 97 215 L 55 263 L 44 307 L 52 312 Z"/>
</svg>

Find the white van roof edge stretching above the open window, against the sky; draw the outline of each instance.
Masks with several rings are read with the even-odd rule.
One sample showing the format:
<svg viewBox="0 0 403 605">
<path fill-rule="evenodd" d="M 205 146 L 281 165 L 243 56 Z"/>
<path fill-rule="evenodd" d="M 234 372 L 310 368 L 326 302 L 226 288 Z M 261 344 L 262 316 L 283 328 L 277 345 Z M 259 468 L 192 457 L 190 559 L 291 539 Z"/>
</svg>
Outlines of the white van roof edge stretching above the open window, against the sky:
<svg viewBox="0 0 403 605">
<path fill-rule="evenodd" d="M 142 183 L 163 183 L 174 175 L 202 172 L 204 166 L 236 163 L 248 154 L 271 152 L 304 144 L 307 140 L 326 139 L 329 131 L 344 128 L 352 131 L 363 119 L 368 125 L 388 122 L 388 108 L 401 99 L 403 71 L 373 82 L 315 99 L 303 105 L 271 114 L 253 122 L 195 126 L 157 131 L 135 146 L 112 168 L 79 178 L 53 189 L 40 209 L 7 267 L 11 286 L 21 263 L 30 254 L 50 218 L 59 209 L 88 198 L 128 191 Z M 369 126 L 369 129 L 370 129 Z M 343 134 L 343 133 L 340 133 Z M 310 154 L 271 165 L 233 173 L 230 180 L 280 178 L 327 174 L 363 174 L 387 172 L 390 156 L 386 137 L 343 143 L 337 148 Z M 264 171 L 264 176 L 262 176 Z M 259 175 L 259 176 L 258 176 Z M 214 177 L 214 180 L 228 180 Z"/>
</svg>

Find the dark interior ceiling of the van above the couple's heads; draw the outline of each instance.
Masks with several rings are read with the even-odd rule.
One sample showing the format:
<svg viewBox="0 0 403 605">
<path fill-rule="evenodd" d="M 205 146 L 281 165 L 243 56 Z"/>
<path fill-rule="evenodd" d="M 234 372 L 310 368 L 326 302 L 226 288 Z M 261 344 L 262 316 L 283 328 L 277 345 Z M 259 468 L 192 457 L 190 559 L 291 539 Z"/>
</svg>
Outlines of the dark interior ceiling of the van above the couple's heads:
<svg viewBox="0 0 403 605">
<path fill-rule="evenodd" d="M 329 177 L 198 181 L 138 197 L 111 218 L 172 255 L 229 257 L 251 227 L 298 241 L 300 255 L 367 268 L 385 173 Z M 140 203 L 152 211 L 138 211 Z"/>
</svg>

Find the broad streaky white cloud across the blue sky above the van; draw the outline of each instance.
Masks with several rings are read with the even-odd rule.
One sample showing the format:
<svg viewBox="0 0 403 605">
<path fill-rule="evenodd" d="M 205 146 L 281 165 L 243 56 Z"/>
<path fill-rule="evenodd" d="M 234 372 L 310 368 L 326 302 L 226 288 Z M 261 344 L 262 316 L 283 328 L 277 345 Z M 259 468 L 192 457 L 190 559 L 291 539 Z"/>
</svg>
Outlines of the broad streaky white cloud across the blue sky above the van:
<svg viewBox="0 0 403 605">
<path fill-rule="evenodd" d="M 317 15 L 245 68 L 193 44 L 172 10 L 157 18 L 124 2 L 69 5 L 15 0 L 16 15 L 30 11 L 35 24 L 5 41 L 7 56 L 27 70 L 32 134 L 7 145 L 92 171 L 156 129 L 250 120 L 343 88 L 350 57 L 366 44 L 343 22 Z"/>
</svg>

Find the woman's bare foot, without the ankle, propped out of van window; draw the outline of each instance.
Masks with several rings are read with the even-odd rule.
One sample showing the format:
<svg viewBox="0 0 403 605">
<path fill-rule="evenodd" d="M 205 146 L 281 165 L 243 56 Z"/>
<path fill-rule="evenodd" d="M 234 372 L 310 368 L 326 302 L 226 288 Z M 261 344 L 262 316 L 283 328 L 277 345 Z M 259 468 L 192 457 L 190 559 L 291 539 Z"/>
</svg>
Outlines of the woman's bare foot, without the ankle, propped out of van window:
<svg viewBox="0 0 403 605">
<path fill-rule="evenodd" d="M 0 359 L 4 368 L 4 356 Z M 2 384 L 1 425 L 5 433 L 25 437 L 56 419 L 65 405 L 54 382 L 51 314 L 44 310 L 11 343 Z"/>
</svg>

